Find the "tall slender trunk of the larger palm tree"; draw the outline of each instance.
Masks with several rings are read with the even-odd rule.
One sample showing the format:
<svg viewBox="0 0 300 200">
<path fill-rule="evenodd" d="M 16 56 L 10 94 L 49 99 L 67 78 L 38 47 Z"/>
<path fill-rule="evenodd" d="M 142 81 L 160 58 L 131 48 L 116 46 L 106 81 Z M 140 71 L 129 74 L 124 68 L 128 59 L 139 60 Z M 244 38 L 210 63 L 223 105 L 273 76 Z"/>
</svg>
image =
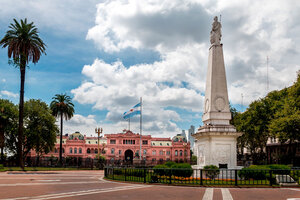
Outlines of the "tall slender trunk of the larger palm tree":
<svg viewBox="0 0 300 200">
<path fill-rule="evenodd" d="M 21 72 L 21 89 L 20 89 L 20 104 L 19 104 L 19 130 L 18 130 L 18 157 L 19 166 L 24 169 L 23 161 L 23 113 L 24 113 L 24 84 L 25 84 L 25 69 L 26 60 L 21 56 L 20 72 Z"/>
</svg>

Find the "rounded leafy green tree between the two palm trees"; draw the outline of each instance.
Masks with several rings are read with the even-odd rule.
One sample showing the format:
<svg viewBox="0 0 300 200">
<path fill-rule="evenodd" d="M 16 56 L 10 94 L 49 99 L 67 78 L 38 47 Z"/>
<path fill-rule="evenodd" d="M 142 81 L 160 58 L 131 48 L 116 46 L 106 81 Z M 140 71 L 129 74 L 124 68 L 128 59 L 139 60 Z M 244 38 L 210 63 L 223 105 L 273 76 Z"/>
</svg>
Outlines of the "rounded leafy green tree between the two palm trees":
<svg viewBox="0 0 300 200">
<path fill-rule="evenodd" d="M 49 153 L 55 146 L 58 133 L 55 117 L 45 102 L 35 99 L 25 102 L 24 116 L 26 128 L 23 156 L 26 157 L 33 149 L 39 161 L 39 157 Z"/>
</svg>

